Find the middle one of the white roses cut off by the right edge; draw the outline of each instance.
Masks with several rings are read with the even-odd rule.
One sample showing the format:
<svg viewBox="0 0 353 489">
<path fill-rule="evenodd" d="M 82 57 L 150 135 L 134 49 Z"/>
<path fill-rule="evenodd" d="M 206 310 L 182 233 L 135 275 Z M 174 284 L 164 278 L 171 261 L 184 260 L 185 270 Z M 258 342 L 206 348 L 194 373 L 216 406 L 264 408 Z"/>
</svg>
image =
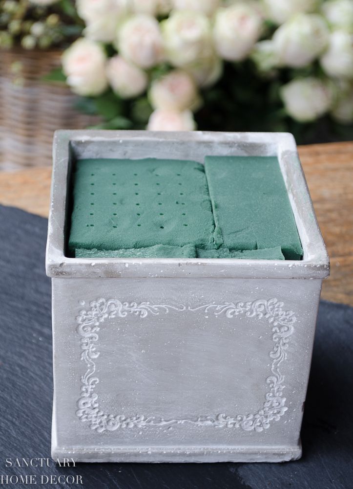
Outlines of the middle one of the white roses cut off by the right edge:
<svg viewBox="0 0 353 489">
<path fill-rule="evenodd" d="M 330 76 L 353 78 L 353 35 L 346 31 L 332 32 L 320 63 Z"/>
</svg>

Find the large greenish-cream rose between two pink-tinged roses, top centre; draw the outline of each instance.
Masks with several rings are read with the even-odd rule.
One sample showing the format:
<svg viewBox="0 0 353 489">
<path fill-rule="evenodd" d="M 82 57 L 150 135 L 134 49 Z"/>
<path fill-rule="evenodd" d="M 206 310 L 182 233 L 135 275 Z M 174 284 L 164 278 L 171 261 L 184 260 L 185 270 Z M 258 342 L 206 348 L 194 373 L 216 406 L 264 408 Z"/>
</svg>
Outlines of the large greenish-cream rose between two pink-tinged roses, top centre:
<svg viewBox="0 0 353 489">
<path fill-rule="evenodd" d="M 195 12 L 176 11 L 161 22 L 166 57 L 177 67 L 212 54 L 210 22 L 205 15 Z"/>
</svg>

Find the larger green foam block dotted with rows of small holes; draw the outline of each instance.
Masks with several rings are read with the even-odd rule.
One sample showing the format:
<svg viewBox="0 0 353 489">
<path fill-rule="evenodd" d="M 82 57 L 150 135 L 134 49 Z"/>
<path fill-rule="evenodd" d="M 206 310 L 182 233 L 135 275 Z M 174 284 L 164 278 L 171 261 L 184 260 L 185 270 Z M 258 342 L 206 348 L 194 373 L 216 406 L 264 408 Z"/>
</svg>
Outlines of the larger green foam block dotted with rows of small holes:
<svg viewBox="0 0 353 489">
<path fill-rule="evenodd" d="M 214 247 L 204 166 L 163 159 L 82 159 L 73 182 L 69 248 L 120 250 L 158 244 Z"/>
</svg>

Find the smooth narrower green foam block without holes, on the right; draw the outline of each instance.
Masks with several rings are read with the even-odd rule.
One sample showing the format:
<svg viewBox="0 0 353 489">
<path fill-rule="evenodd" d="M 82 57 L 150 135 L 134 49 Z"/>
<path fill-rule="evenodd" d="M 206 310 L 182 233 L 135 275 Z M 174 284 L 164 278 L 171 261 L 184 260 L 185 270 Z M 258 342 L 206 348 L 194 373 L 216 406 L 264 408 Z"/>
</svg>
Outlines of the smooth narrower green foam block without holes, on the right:
<svg viewBox="0 0 353 489">
<path fill-rule="evenodd" d="M 280 246 L 300 260 L 300 244 L 278 159 L 272 156 L 206 156 L 214 221 L 230 250 Z"/>
</svg>

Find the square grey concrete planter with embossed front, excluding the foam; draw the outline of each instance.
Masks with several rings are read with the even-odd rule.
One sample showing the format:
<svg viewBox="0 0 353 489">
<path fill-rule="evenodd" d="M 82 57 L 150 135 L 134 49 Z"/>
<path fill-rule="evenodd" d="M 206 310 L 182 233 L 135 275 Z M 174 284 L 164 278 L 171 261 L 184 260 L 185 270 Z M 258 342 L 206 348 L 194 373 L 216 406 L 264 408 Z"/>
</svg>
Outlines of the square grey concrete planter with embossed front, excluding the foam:
<svg viewBox="0 0 353 489">
<path fill-rule="evenodd" d="M 65 256 L 80 157 L 279 158 L 302 261 Z M 300 426 L 329 259 L 286 133 L 59 131 L 52 277 L 52 456 L 101 462 L 279 462 Z"/>
</svg>

